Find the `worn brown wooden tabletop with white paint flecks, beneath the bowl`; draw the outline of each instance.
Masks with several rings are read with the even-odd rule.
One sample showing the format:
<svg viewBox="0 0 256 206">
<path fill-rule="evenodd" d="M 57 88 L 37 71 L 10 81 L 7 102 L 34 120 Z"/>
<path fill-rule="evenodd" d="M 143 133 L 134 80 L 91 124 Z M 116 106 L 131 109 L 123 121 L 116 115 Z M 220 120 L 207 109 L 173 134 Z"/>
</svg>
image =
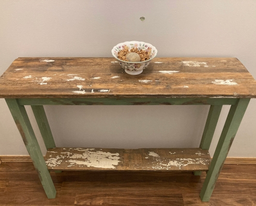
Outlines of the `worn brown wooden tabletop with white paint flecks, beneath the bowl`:
<svg viewBox="0 0 256 206">
<path fill-rule="evenodd" d="M 0 77 L 0 98 L 255 98 L 236 58 L 155 58 L 129 75 L 114 58 L 18 58 Z"/>
</svg>

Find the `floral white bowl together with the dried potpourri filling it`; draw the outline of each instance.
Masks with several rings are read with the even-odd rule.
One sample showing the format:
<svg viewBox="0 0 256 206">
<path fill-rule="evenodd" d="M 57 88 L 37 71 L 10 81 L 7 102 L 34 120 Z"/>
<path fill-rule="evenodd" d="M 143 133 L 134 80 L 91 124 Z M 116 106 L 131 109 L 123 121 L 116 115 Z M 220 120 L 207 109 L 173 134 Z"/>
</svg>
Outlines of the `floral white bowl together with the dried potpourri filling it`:
<svg viewBox="0 0 256 206">
<path fill-rule="evenodd" d="M 141 74 L 157 55 L 155 46 L 139 41 L 119 43 L 113 47 L 111 52 L 125 72 L 131 75 Z"/>
</svg>

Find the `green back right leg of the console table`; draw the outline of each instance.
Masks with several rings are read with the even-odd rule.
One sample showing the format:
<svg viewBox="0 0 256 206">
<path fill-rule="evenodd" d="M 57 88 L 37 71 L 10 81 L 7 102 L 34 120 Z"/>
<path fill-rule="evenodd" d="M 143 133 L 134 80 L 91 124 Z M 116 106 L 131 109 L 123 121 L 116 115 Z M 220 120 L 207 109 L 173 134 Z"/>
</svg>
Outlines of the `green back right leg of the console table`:
<svg viewBox="0 0 256 206">
<path fill-rule="evenodd" d="M 209 113 L 208 113 L 207 120 L 204 127 L 203 136 L 199 146 L 201 149 L 209 150 L 210 143 L 213 140 L 213 135 L 218 123 L 221 109 L 222 109 L 222 105 L 210 106 Z M 200 176 L 201 174 L 202 174 L 202 171 L 194 171 L 194 175 Z"/>
</svg>

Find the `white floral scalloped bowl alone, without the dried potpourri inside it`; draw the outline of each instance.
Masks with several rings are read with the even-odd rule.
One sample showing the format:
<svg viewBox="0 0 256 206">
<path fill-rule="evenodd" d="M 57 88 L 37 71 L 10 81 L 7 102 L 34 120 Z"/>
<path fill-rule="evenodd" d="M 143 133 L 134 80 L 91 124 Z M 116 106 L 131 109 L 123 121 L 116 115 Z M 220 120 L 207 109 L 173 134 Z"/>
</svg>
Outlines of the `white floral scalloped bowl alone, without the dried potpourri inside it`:
<svg viewBox="0 0 256 206">
<path fill-rule="evenodd" d="M 118 52 L 120 50 L 123 50 L 125 46 L 128 46 L 129 50 L 135 47 L 135 48 L 138 48 L 139 50 L 140 49 L 146 50 L 146 52 L 151 49 L 150 59 L 146 61 L 140 61 L 140 62 L 128 62 L 128 61 L 123 61 L 121 59 L 118 59 L 117 58 Z M 122 68 L 125 69 L 125 72 L 131 75 L 137 75 L 142 73 L 144 68 L 146 68 L 150 63 L 150 61 L 157 55 L 157 49 L 155 46 L 149 43 L 139 42 L 139 41 L 119 43 L 113 47 L 111 52 L 112 52 L 112 55 L 116 58 L 116 60 L 119 62 L 119 64 L 122 66 Z"/>
</svg>

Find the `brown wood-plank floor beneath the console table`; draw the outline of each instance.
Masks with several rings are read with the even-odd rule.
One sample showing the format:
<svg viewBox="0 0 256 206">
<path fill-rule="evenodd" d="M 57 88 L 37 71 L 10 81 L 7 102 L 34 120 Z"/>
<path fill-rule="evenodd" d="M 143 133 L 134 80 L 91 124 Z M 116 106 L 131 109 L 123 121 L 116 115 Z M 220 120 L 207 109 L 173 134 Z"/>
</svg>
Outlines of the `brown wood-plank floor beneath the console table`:
<svg viewBox="0 0 256 206">
<path fill-rule="evenodd" d="M 256 205 L 256 165 L 225 164 L 209 202 L 205 178 L 190 171 L 51 172 L 57 195 L 47 199 L 32 163 L 0 165 L 0 205 Z"/>
</svg>

